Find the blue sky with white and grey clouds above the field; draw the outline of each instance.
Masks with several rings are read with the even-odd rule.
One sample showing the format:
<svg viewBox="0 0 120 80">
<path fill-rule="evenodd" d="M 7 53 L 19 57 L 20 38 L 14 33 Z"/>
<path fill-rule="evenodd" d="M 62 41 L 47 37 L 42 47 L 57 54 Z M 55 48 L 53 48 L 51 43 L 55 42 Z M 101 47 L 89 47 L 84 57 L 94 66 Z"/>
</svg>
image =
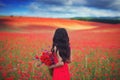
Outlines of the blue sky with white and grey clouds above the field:
<svg viewBox="0 0 120 80">
<path fill-rule="evenodd" d="M 120 0 L 0 0 L 0 15 L 120 17 Z"/>
</svg>

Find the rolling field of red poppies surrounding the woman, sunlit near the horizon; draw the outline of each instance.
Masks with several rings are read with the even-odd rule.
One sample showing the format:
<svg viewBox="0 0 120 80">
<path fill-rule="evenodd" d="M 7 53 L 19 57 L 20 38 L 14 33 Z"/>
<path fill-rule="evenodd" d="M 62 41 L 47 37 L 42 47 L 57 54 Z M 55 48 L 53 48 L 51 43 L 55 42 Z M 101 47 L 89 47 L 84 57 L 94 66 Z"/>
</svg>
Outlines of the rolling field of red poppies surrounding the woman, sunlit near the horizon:
<svg viewBox="0 0 120 80">
<path fill-rule="evenodd" d="M 48 68 L 37 67 L 33 57 L 51 49 L 54 31 L 62 26 L 70 38 L 71 80 L 120 78 L 120 24 L 74 20 L 62 23 L 59 19 L 56 24 L 53 19 L 39 23 L 38 18 L 0 20 L 0 80 L 51 80 Z"/>
</svg>

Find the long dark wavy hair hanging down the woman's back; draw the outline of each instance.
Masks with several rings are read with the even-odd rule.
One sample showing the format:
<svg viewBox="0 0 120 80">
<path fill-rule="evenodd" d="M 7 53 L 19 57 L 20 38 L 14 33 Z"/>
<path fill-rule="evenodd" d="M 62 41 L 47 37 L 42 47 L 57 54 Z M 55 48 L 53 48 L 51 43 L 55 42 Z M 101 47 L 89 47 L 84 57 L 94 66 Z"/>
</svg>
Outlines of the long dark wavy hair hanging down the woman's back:
<svg viewBox="0 0 120 80">
<path fill-rule="evenodd" d="M 61 56 L 63 62 L 70 60 L 71 49 L 66 29 L 56 29 L 53 37 L 53 45 L 51 51 L 52 53 L 57 53 L 57 51 L 59 51 L 59 55 Z"/>
</svg>

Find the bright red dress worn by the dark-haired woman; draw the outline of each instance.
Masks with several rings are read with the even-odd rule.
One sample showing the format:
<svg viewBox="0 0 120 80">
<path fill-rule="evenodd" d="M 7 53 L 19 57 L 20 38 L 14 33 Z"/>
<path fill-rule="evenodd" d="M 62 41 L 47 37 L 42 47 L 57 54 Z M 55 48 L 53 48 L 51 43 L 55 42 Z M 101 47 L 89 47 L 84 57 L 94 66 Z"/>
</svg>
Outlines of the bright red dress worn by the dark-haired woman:
<svg viewBox="0 0 120 80">
<path fill-rule="evenodd" d="M 58 59 L 56 57 L 56 63 Z M 63 66 L 56 67 L 53 69 L 52 80 L 70 80 L 70 73 L 68 69 L 68 63 L 64 63 Z"/>
</svg>

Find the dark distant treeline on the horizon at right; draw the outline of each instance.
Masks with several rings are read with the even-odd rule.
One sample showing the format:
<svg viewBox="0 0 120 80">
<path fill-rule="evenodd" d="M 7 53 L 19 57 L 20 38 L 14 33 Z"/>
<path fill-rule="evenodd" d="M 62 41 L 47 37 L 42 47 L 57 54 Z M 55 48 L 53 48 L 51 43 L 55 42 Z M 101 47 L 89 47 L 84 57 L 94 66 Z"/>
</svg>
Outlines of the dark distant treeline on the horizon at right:
<svg viewBox="0 0 120 80">
<path fill-rule="evenodd" d="M 120 17 L 74 17 L 71 18 L 73 20 L 84 20 L 84 21 L 94 21 L 94 22 L 102 22 L 102 23 L 111 23 L 118 24 L 120 23 Z"/>
</svg>

